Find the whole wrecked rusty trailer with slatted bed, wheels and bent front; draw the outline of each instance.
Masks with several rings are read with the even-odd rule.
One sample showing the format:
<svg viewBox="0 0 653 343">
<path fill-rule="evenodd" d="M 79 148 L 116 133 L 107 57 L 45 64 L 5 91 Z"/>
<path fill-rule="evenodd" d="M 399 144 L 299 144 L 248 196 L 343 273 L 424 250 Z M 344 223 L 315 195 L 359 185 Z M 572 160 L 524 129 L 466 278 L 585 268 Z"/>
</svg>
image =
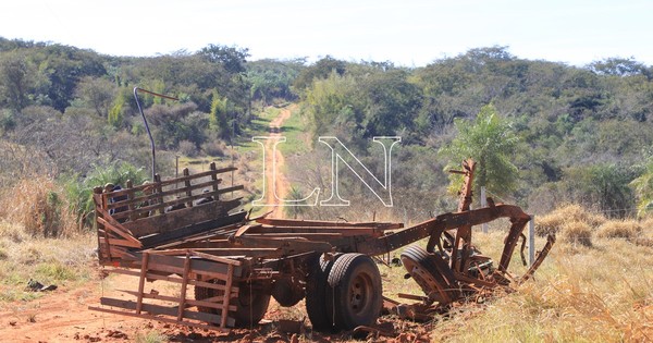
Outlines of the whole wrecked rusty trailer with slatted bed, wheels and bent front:
<svg viewBox="0 0 653 343">
<path fill-rule="evenodd" d="M 466 161 L 457 211 L 410 228 L 391 222 L 340 222 L 249 218 L 233 197 L 242 186 L 222 185 L 233 168 L 97 187 L 94 193 L 99 261 L 134 275 L 131 299 L 102 297 L 94 309 L 214 330 L 259 322 L 273 297 L 281 306 L 305 299 L 313 330 L 371 326 L 384 304 L 374 256 L 422 238 L 402 261 L 424 291 L 411 316 L 443 308 L 482 289 L 507 286 L 510 258 L 530 217 L 519 207 L 494 204 L 469 209 L 475 164 Z M 472 225 L 508 218 L 495 266 L 471 243 Z M 522 243 L 523 244 L 523 243 Z M 521 278 L 529 278 L 553 240 Z M 523 246 L 522 246 L 523 248 Z M 155 289 L 156 287 L 156 289 Z M 389 304 L 389 299 L 385 299 Z M 404 307 L 403 307 L 404 308 Z"/>
</svg>

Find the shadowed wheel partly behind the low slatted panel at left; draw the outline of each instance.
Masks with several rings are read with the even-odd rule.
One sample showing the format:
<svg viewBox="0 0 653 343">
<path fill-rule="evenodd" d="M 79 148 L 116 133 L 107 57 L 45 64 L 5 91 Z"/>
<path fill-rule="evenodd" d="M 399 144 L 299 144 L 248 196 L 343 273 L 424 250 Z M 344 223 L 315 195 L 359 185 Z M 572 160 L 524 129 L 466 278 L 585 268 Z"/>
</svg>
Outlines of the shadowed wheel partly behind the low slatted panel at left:
<svg viewBox="0 0 653 343">
<path fill-rule="evenodd" d="M 248 327 L 258 323 L 270 305 L 270 294 L 266 294 L 261 291 L 261 287 L 257 284 L 247 282 L 238 283 L 238 297 L 232 298 L 230 304 L 236 306 L 236 311 L 231 313 L 234 317 L 236 327 Z M 206 298 L 221 296 L 223 291 L 213 290 L 209 287 L 195 286 L 195 299 L 202 301 Z M 218 314 L 218 309 L 210 307 L 198 306 L 197 309 L 206 314 Z"/>
</svg>

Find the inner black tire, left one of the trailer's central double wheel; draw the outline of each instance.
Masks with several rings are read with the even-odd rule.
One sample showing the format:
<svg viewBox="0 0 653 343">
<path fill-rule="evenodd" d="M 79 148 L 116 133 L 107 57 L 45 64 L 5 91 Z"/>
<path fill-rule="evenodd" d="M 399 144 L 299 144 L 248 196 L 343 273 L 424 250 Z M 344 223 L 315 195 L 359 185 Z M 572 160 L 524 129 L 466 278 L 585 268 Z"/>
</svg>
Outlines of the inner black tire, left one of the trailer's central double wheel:
<svg viewBox="0 0 653 343">
<path fill-rule="evenodd" d="M 335 254 L 331 259 L 325 260 L 323 255 L 320 255 L 306 278 L 306 313 L 315 331 L 333 330 L 332 315 L 326 308 L 326 299 L 331 298 L 328 279 L 334 261 L 341 256 L 342 254 Z"/>
</svg>

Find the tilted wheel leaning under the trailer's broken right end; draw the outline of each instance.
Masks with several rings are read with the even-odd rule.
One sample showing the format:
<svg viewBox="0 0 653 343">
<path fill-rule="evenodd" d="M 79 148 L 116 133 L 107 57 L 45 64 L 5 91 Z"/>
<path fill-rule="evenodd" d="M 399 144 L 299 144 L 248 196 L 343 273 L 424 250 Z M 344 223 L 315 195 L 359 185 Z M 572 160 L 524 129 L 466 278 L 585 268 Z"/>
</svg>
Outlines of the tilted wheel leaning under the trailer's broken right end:
<svg viewBox="0 0 653 343">
<path fill-rule="evenodd" d="M 436 254 L 419 246 L 410 246 L 401 255 L 402 264 L 424 294 L 440 304 L 448 304 L 456 296 L 455 277 L 448 265 Z"/>
</svg>

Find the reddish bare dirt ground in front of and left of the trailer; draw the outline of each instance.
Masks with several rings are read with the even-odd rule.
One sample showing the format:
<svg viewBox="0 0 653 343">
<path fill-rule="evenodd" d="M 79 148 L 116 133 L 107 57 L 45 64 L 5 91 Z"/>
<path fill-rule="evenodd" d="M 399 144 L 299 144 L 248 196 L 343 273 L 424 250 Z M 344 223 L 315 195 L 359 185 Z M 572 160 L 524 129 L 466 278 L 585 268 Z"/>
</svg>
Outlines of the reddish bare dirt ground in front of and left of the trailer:
<svg viewBox="0 0 653 343">
<path fill-rule="evenodd" d="M 100 267 L 98 267 L 99 269 Z M 100 272 L 98 272 L 100 274 Z M 138 335 L 155 331 L 170 342 L 345 342 L 352 332 L 324 335 L 311 332 L 308 319 L 299 332 L 280 330 L 283 309 L 271 302 L 261 324 L 251 329 L 234 329 L 229 333 L 193 329 L 155 320 L 95 311 L 99 298 L 125 297 L 118 289 L 137 289 L 137 278 L 112 274 L 93 280 L 76 289 L 62 286 L 42 297 L 15 303 L 0 313 L 0 341 L 3 342 L 134 342 Z M 300 306 L 304 310 L 301 304 Z M 373 342 L 429 342 L 431 326 L 381 318 L 380 326 L 393 336 L 377 336 Z"/>
</svg>

